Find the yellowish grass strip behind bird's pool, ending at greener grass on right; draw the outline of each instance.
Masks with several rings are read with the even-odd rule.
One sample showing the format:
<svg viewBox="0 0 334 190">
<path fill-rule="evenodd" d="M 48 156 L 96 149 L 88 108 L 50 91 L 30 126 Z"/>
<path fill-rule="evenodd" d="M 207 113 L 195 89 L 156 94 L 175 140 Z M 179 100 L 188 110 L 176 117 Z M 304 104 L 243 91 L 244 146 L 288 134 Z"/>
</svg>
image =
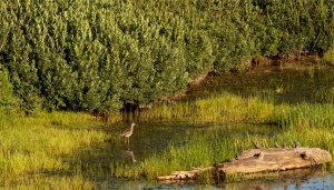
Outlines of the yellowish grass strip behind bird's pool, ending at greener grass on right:
<svg viewBox="0 0 334 190">
<path fill-rule="evenodd" d="M 187 120 L 191 122 L 267 122 L 274 103 L 253 97 L 243 99 L 224 93 L 195 101 L 163 104 L 143 114 L 145 119 Z"/>
</svg>

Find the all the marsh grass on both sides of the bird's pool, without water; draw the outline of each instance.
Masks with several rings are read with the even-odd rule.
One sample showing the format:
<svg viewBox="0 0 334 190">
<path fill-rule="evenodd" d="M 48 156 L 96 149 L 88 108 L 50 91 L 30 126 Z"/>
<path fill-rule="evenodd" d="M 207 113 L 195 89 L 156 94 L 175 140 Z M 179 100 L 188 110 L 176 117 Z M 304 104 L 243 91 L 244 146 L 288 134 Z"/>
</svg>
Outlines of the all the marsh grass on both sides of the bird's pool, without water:
<svg viewBox="0 0 334 190">
<path fill-rule="evenodd" d="M 124 160 L 100 167 L 82 163 L 82 158 L 76 153 L 82 147 L 106 141 L 116 146 L 122 143 L 118 136 L 100 130 L 106 124 L 100 120 L 71 112 L 41 112 L 30 118 L 0 113 L 0 184 L 35 188 L 40 183 L 53 188 L 59 183 L 60 189 L 80 189 L 96 186 L 85 174 L 108 172 L 118 178 L 153 180 L 176 170 L 230 160 L 252 148 L 253 141 L 262 147 L 274 147 L 275 142 L 291 146 L 296 140 L 303 147 L 321 147 L 334 154 L 332 103 L 277 103 L 273 94 L 267 94 L 245 98 L 224 92 L 205 99 L 169 102 L 141 112 L 140 121 L 183 121 L 214 124 L 215 128 L 196 130 L 185 136 L 185 143 L 170 142 L 165 151 L 143 161 Z M 120 118 L 120 114 L 110 118 L 108 124 Z M 328 168 L 333 170 L 333 166 Z M 46 173 L 53 174 L 43 177 Z M 37 176 L 35 180 L 31 174 Z M 228 177 L 229 180 L 236 178 Z M 213 182 L 208 173 L 199 179 Z"/>
</svg>

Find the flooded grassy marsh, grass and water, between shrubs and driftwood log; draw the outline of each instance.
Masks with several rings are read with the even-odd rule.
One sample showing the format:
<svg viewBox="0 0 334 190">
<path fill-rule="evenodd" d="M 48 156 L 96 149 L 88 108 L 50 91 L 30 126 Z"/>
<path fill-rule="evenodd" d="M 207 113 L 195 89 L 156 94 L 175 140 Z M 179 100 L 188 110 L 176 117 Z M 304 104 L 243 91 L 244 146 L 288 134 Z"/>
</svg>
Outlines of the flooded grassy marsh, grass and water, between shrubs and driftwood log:
<svg viewBox="0 0 334 190">
<path fill-rule="evenodd" d="M 314 72 L 321 72 L 318 86 L 311 86 Z M 332 72 L 304 69 L 247 73 L 250 76 L 244 81 L 248 83 L 245 88 L 236 88 L 234 82 L 224 87 L 215 83 L 233 77 L 238 86 L 237 81 L 245 79 L 244 73 L 214 77 L 215 80 L 189 89 L 189 97 L 196 93 L 197 99 L 165 102 L 127 117 L 115 114 L 107 122 L 87 113 L 10 117 L 2 112 L 1 184 L 90 189 L 110 188 L 116 181 L 120 187 L 136 187 L 136 180 L 155 181 L 157 176 L 175 170 L 229 160 L 252 148 L 254 140 L 263 147 L 274 147 L 275 142 L 292 144 L 297 140 L 305 147 L 320 147 L 334 154 L 334 106 L 328 83 Z M 259 90 L 263 79 L 273 82 L 266 82 Z M 322 93 L 323 99 L 310 96 L 314 88 L 326 92 Z M 313 99 L 293 102 L 292 91 L 304 91 L 297 94 Z M 126 144 L 119 134 L 129 127 L 128 121 L 136 121 L 138 127 Z M 333 166 L 323 171 L 331 173 Z M 269 177 L 278 180 L 275 173 Z M 132 179 L 135 184 L 117 180 L 124 178 Z M 227 180 L 236 181 L 234 176 Z M 213 179 L 204 174 L 200 182 L 210 184 Z"/>
</svg>

